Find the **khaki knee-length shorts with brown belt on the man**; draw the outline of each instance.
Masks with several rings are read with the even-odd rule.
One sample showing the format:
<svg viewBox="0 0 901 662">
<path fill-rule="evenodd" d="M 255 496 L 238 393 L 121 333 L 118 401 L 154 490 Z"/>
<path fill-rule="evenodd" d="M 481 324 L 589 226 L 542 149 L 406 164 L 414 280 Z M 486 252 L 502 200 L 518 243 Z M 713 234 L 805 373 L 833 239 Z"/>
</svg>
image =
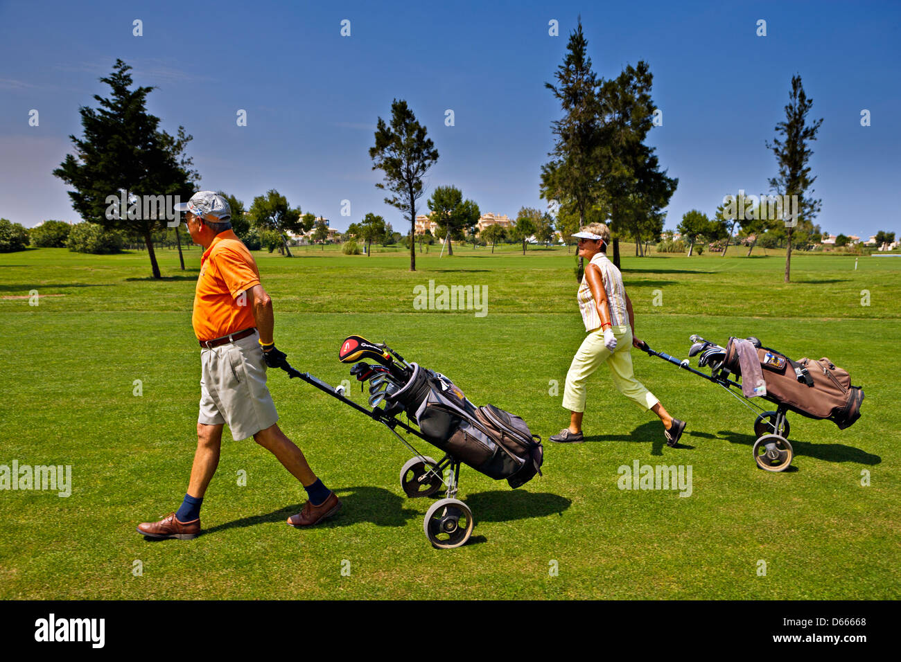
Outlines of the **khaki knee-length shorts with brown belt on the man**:
<svg viewBox="0 0 901 662">
<path fill-rule="evenodd" d="M 266 386 L 266 361 L 259 333 L 200 350 L 198 423 L 227 424 L 235 440 L 252 437 L 278 421 Z"/>
</svg>

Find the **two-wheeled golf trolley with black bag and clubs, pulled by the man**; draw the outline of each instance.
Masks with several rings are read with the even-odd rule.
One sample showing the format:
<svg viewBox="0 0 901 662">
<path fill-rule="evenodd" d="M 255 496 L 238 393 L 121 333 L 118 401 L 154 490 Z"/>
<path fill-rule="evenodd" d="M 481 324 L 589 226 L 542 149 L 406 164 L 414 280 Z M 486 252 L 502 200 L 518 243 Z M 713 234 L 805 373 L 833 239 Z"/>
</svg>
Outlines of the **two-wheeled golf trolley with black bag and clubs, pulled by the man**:
<svg viewBox="0 0 901 662">
<path fill-rule="evenodd" d="M 376 363 L 369 364 L 363 358 Z M 344 340 L 339 360 L 354 364 L 350 374 L 360 382 L 361 388 L 369 382 L 371 410 L 350 400 L 341 385 L 332 386 L 293 367 L 285 369 L 289 376 L 300 377 L 382 423 L 410 449 L 414 457 L 400 470 L 404 494 L 416 499 L 444 493 L 443 498 L 432 503 L 423 521 L 425 537 L 434 547 L 460 547 L 469 540 L 475 527 L 469 506 L 456 498 L 461 464 L 496 479 L 506 478 L 513 487 L 540 473 L 541 438 L 532 437 L 522 419 L 513 414 L 490 404 L 476 407 L 441 373 L 407 363 L 384 343 L 372 343 L 359 336 Z M 402 412 L 418 424 L 418 430 L 396 418 Z M 444 450 L 443 457 L 435 460 L 423 455 L 398 429 Z"/>
</svg>

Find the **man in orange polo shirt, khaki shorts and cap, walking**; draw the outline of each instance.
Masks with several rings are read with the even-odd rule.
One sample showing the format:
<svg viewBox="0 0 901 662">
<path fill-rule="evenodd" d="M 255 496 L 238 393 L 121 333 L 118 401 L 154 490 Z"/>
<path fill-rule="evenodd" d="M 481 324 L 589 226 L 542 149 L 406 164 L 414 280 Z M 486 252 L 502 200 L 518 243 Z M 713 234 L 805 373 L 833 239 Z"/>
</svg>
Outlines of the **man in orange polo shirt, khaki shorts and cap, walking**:
<svg viewBox="0 0 901 662">
<path fill-rule="evenodd" d="M 308 501 L 287 523 L 311 526 L 341 510 L 341 501 L 278 428 L 266 368 L 285 367 L 287 360 L 272 340 L 272 301 L 259 282 L 257 263 L 232 231 L 232 210 L 222 195 L 200 191 L 176 208 L 187 212 L 191 239 L 204 247 L 192 315 L 203 348 L 197 449 L 181 507 L 160 521 L 141 523 L 138 532 L 154 539 L 197 537 L 200 505 L 219 464 L 226 423 L 235 440 L 253 437 L 304 485 Z"/>
</svg>

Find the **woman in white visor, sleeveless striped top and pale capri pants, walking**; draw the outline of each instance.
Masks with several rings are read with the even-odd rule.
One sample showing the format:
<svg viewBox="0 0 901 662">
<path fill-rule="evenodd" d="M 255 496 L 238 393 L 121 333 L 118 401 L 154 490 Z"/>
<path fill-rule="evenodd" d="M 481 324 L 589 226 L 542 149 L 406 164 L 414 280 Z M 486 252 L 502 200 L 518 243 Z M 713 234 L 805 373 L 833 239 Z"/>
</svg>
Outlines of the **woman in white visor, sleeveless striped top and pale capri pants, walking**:
<svg viewBox="0 0 901 662">
<path fill-rule="evenodd" d="M 623 275 L 606 256 L 610 230 L 604 223 L 591 223 L 573 235 L 578 239 L 578 256 L 588 260 L 585 276 L 578 288 L 578 309 L 588 332 L 576 356 L 572 359 L 563 392 L 563 407 L 569 409 L 569 428 L 551 435 L 551 441 L 579 442 L 582 435 L 582 416 L 585 413 L 586 383 L 602 364 L 610 366 L 614 385 L 620 393 L 651 410 L 663 422 L 668 446 L 675 446 L 685 422 L 672 418 L 640 381 L 635 379 L 631 346 L 639 347 L 634 337 L 635 315 L 632 301 L 625 293 Z M 617 349 L 618 348 L 618 349 Z"/>
</svg>

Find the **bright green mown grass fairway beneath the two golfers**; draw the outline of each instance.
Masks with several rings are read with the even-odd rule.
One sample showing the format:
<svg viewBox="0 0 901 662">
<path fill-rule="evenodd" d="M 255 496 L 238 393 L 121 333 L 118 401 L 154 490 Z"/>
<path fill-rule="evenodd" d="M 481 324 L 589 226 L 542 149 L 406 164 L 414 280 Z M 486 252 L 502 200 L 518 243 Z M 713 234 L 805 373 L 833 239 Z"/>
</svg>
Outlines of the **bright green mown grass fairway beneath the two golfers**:
<svg viewBox="0 0 901 662">
<path fill-rule="evenodd" d="M 573 256 L 508 246 L 439 258 L 438 249 L 419 255 L 414 273 L 402 251 L 257 254 L 279 348 L 337 384 L 349 377 L 337 360 L 346 335 L 386 340 L 547 440 L 568 422 L 563 380 L 584 336 Z M 0 492 L 0 598 L 897 599 L 901 258 L 861 257 L 855 269 L 853 257 L 801 254 L 786 285 L 784 257 L 730 251 L 634 258 L 626 245 L 637 335 L 678 357 L 691 333 L 756 335 L 792 358 L 828 356 L 865 387 L 860 421 L 839 431 L 789 414 L 793 465 L 764 472 L 751 458 L 751 412 L 633 350 L 639 379 L 688 422 L 681 448 L 665 445 L 660 422 L 619 394 L 604 367 L 588 389 L 588 442 L 546 443 L 543 477 L 511 490 L 463 467 L 459 496 L 476 530 L 452 550 L 432 549 L 423 535 L 432 499 L 403 497 L 398 472 L 409 451 L 281 372 L 269 374 L 280 425 L 344 510 L 311 530 L 288 527 L 303 489 L 253 440 L 226 431 L 205 534 L 144 540 L 135 526 L 177 508 L 196 446 L 199 250 L 187 251 L 186 272 L 176 252 L 160 251 L 159 282 L 148 278 L 145 253 L 0 255 L 0 465 L 72 467 L 68 498 Z M 487 315 L 414 310 L 414 287 L 430 279 L 487 286 Z M 141 396 L 132 394 L 138 379 Z M 359 387 L 350 393 L 365 404 Z M 618 467 L 635 460 L 690 465 L 692 494 L 619 489 Z"/>
</svg>

